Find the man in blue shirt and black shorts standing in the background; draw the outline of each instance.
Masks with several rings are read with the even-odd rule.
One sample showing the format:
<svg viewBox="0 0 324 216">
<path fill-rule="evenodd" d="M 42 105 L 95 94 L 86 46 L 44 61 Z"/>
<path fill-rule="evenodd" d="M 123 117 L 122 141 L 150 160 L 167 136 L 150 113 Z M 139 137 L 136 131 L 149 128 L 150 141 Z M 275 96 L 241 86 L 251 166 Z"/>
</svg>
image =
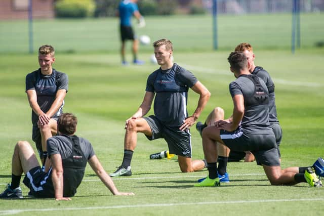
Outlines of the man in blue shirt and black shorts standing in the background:
<svg viewBox="0 0 324 216">
<path fill-rule="evenodd" d="M 137 0 L 124 0 L 119 3 L 117 16 L 120 19 L 120 39 L 121 39 L 121 60 L 123 65 L 127 65 L 128 62 L 125 58 L 125 44 L 126 40 L 133 40 L 133 63 L 141 65 L 144 62 L 137 59 L 138 53 L 138 39 L 137 36 L 134 34 L 132 28 L 132 17 L 135 18 L 139 22 L 139 27 L 145 26 L 145 21 L 142 15 L 140 14 L 138 7 L 137 7 Z"/>
</svg>

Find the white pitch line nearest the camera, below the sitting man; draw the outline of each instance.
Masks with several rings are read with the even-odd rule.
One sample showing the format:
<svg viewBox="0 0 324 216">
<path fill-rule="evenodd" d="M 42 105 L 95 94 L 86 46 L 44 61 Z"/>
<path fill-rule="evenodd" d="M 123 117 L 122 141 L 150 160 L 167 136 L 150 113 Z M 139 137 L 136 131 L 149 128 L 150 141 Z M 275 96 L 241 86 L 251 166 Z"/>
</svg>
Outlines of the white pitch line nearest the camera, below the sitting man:
<svg viewBox="0 0 324 216">
<path fill-rule="evenodd" d="M 305 198 L 305 199 L 266 199 L 266 200 L 236 200 L 236 201 L 211 201 L 211 202 L 184 202 L 184 203 L 155 203 L 138 205 L 113 205 L 97 207 L 74 207 L 74 208 L 38 208 L 38 209 L 10 209 L 0 210 L 0 215 L 16 214 L 26 211 L 71 211 L 71 210 L 95 210 L 95 209 L 114 209 L 114 208 L 138 208 L 138 207 L 165 207 L 181 205 L 210 205 L 210 204 L 239 204 L 239 203 L 265 203 L 265 202 L 310 202 L 324 201 L 324 198 Z"/>
</svg>

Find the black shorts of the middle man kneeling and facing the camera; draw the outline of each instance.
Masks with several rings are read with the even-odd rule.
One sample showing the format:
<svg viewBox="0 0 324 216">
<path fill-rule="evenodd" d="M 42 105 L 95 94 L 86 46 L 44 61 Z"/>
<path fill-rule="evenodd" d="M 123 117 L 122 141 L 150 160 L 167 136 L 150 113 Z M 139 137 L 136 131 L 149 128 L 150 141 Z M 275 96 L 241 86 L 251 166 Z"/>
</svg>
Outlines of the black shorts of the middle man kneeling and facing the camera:
<svg viewBox="0 0 324 216">
<path fill-rule="evenodd" d="M 170 154 L 191 158 L 191 135 L 189 130 L 181 131 L 179 127 L 170 127 L 161 123 L 154 115 L 144 117 L 152 131 L 149 140 L 163 138 L 167 141 Z"/>
</svg>

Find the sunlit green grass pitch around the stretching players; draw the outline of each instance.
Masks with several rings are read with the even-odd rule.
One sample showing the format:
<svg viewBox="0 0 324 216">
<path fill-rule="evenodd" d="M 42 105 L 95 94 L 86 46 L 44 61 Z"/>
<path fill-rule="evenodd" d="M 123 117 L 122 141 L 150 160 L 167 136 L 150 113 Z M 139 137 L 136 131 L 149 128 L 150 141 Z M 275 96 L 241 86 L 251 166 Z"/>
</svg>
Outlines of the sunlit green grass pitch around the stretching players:
<svg viewBox="0 0 324 216">
<path fill-rule="evenodd" d="M 166 21 L 151 19 L 160 23 Z M 228 17 L 228 22 L 234 24 L 231 19 L 233 18 Z M 108 22 L 101 21 L 102 24 Z M 54 22 L 56 26 L 65 27 L 77 25 L 80 21 L 42 22 Z M 4 27 L 6 24 L 0 25 Z M 289 32 L 289 29 L 286 30 Z M 3 31 L 0 32 L 3 34 Z M 157 38 L 158 32 L 155 33 L 154 37 Z M 170 32 L 170 35 L 173 35 L 170 36 L 171 39 L 174 37 L 177 41 L 175 62 L 191 70 L 212 93 L 199 120 L 204 121 L 215 106 L 223 107 L 225 114 L 230 115 L 232 101 L 228 84 L 234 80 L 234 76 L 228 69 L 226 59 L 235 45 L 244 39 L 231 37 L 221 51 L 213 52 L 208 48 L 203 49 L 211 40 L 197 40 L 191 46 L 182 41 L 179 35 L 176 37 L 175 32 Z M 313 37 L 320 38 L 320 35 Z M 27 73 L 38 68 L 37 56 L 17 54 L 21 46 L 14 42 L 15 38 L 12 39 L 7 43 L 1 39 L 0 45 L 8 52 L 12 51 L 10 55 L 3 52 L 0 54 L 1 191 L 11 180 L 11 157 L 15 143 L 18 140 L 32 143 L 31 110 L 24 93 L 24 81 Z M 64 53 L 64 43 L 71 45 L 69 49 L 74 49 L 73 46 L 77 44 L 75 41 L 52 37 L 49 40 L 50 42 L 46 42 L 46 38 L 42 38 L 38 42 L 51 44 L 56 41 L 54 68 L 69 76 L 69 92 L 65 98 L 64 111 L 77 115 L 77 135 L 90 140 L 104 168 L 108 172 L 114 171 L 123 157 L 124 122 L 142 102 L 146 78 L 157 67 L 150 63 L 143 66 L 120 66 L 119 56 L 114 52 L 118 44 L 107 41 L 104 37 L 100 40 L 107 42 L 105 46 L 108 43 L 112 46 L 109 53 L 97 49 L 98 38 L 89 38 L 89 44 L 85 45 L 88 49 L 74 54 Z M 281 143 L 282 167 L 311 165 L 318 156 L 324 156 L 324 76 L 321 71 L 324 49 L 311 48 L 310 43 L 307 49 L 292 55 L 289 42 L 287 49 L 267 50 L 268 46 L 262 46 L 261 40 L 262 38 L 253 37 L 250 42 L 253 44 L 255 41 L 259 48 L 255 49 L 256 63 L 270 72 L 276 84 L 278 118 L 284 131 Z M 89 49 L 92 45 L 99 53 Z M 102 50 L 105 50 L 105 46 Z M 27 52 L 27 47 L 23 52 Z M 191 50 L 191 47 L 194 49 Z M 145 52 L 140 54 L 140 58 L 148 61 L 150 48 L 143 50 Z M 189 113 L 194 111 L 197 99 L 197 95 L 190 90 Z M 194 128 L 191 129 L 191 134 L 193 158 L 203 158 L 201 139 Z M 205 177 L 207 171 L 183 174 L 175 158 L 149 160 L 150 154 L 166 148 L 163 140 L 149 142 L 143 135 L 138 136 L 138 146 L 132 160 L 133 176 L 114 179 L 120 191 L 132 191 L 135 196 L 112 196 L 90 166 L 87 166 L 84 181 L 72 201 L 29 198 L 1 200 L 0 215 L 320 215 L 324 210 L 324 188 L 310 188 L 305 183 L 296 186 L 270 186 L 262 167 L 255 162 L 228 163 L 231 182 L 222 184 L 222 187 L 194 188 L 196 180 Z M 27 195 L 27 188 L 23 184 L 21 187 L 23 195 Z"/>
</svg>

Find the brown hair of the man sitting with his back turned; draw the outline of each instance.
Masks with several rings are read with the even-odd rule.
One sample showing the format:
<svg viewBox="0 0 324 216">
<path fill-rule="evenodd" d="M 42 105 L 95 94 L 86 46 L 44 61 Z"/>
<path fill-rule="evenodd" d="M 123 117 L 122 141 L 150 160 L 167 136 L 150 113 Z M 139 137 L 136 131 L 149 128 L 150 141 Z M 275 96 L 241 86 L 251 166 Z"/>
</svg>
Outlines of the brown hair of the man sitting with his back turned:
<svg viewBox="0 0 324 216">
<path fill-rule="evenodd" d="M 63 113 L 57 120 L 57 130 L 64 135 L 72 135 L 76 131 L 77 118 L 72 113 Z"/>
</svg>

